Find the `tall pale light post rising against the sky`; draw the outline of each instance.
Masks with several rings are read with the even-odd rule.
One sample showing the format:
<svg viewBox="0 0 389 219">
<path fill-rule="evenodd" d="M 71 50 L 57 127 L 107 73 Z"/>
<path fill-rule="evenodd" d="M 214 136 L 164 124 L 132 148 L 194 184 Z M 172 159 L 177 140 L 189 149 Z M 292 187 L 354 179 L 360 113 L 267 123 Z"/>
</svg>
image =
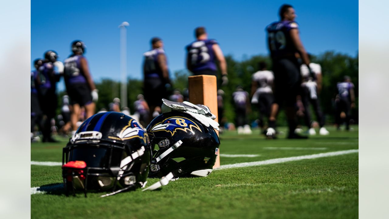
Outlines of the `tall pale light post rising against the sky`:
<svg viewBox="0 0 389 219">
<path fill-rule="evenodd" d="M 127 26 L 130 24 L 124 21 L 120 28 L 120 101 L 121 107 L 127 107 Z"/>
</svg>

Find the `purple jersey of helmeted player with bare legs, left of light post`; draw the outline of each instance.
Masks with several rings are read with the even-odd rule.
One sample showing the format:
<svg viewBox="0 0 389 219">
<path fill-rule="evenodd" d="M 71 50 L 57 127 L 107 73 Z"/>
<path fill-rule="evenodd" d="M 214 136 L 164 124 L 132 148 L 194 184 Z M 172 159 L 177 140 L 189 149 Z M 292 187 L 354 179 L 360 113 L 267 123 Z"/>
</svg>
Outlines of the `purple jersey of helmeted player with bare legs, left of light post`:
<svg viewBox="0 0 389 219">
<path fill-rule="evenodd" d="M 82 55 L 71 55 L 65 59 L 65 82 L 68 84 L 86 83 L 84 72 L 81 69 Z"/>
</svg>

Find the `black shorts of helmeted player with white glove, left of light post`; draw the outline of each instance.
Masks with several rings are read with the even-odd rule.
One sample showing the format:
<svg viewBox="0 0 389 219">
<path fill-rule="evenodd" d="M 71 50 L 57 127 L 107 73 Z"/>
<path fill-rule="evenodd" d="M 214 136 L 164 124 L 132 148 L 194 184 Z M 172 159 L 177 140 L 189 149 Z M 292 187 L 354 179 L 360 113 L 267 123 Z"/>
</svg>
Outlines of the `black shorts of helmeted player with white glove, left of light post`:
<svg viewBox="0 0 389 219">
<path fill-rule="evenodd" d="M 69 84 L 66 89 L 70 98 L 70 104 L 85 106 L 92 102 L 91 89 L 87 83 Z"/>
</svg>

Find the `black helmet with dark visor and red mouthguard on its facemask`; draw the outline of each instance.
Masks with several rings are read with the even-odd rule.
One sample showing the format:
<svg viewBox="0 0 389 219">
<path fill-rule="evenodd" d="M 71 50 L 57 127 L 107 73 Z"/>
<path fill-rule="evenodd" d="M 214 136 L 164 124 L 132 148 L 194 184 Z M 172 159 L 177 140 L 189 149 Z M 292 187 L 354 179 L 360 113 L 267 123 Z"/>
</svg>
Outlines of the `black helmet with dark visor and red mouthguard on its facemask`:
<svg viewBox="0 0 389 219">
<path fill-rule="evenodd" d="M 109 196 L 144 187 L 151 145 L 144 128 L 117 112 L 98 113 L 81 124 L 63 148 L 66 194 L 75 190 L 110 191 Z"/>
</svg>

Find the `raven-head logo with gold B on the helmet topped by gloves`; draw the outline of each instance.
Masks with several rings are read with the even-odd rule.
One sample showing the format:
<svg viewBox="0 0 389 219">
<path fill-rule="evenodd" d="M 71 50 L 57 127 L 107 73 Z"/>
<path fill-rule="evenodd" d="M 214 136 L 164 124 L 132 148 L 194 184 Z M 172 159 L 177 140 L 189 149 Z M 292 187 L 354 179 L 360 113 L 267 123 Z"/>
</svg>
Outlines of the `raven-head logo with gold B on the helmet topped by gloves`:
<svg viewBox="0 0 389 219">
<path fill-rule="evenodd" d="M 170 117 L 166 118 L 160 123 L 157 123 L 151 128 L 151 132 L 157 132 L 157 131 L 166 131 L 170 132 L 172 136 L 177 132 L 177 130 L 181 130 L 184 132 L 192 132 L 192 134 L 195 134 L 193 129 L 197 129 L 201 132 L 200 127 L 193 122 L 192 120 L 185 118 L 185 117 Z"/>
</svg>

